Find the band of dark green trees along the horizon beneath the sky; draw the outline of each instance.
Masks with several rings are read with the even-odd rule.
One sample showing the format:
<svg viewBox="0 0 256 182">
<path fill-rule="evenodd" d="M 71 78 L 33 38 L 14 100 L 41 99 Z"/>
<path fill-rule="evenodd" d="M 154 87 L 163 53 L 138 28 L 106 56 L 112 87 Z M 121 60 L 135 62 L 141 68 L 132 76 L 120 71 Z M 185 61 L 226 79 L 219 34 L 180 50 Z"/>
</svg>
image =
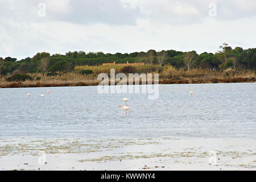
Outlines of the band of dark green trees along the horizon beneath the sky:
<svg viewBox="0 0 256 182">
<path fill-rule="evenodd" d="M 224 43 L 216 53 L 201 53 L 196 51 L 181 52 L 167 50 L 156 52 L 149 50 L 147 52 L 133 53 L 103 53 L 75 51 L 67 52 L 65 55 L 50 55 L 47 52 L 37 53 L 33 57 L 17 60 L 13 57 L 0 57 L 1 75 L 15 75 L 24 73 L 48 73 L 72 72 L 77 66 L 101 65 L 102 63 L 146 63 L 158 65 L 172 65 L 176 69 L 183 68 L 184 71 L 192 68 L 201 69 L 256 69 L 256 48 L 243 49 L 236 47 L 232 49 Z M 124 70 L 125 71 L 125 70 Z M 129 71 L 129 70 L 128 70 Z M 127 71 L 126 71 L 127 72 Z M 82 74 L 88 75 L 90 71 L 82 71 Z"/>
</svg>

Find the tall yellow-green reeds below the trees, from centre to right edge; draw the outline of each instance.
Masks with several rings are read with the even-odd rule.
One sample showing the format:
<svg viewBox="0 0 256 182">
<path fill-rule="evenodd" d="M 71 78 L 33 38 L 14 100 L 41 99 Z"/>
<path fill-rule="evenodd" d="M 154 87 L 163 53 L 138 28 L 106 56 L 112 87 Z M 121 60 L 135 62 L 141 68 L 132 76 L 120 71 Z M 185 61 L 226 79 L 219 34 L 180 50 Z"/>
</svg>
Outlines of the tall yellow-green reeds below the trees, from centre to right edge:
<svg viewBox="0 0 256 182">
<path fill-rule="evenodd" d="M 115 73 L 122 73 L 122 69 L 127 66 L 125 65 L 104 65 L 104 66 L 80 66 L 76 67 L 75 71 L 79 72 L 83 69 L 90 69 L 94 74 L 100 73 L 110 74 L 110 69 L 115 69 Z M 185 78 L 233 78 L 233 77 L 256 77 L 255 71 L 251 70 L 233 70 L 226 69 L 224 71 L 216 71 L 213 69 L 175 69 L 171 65 L 160 66 L 160 65 L 133 65 L 133 73 L 159 73 L 159 77 L 166 79 L 185 79 Z"/>
</svg>

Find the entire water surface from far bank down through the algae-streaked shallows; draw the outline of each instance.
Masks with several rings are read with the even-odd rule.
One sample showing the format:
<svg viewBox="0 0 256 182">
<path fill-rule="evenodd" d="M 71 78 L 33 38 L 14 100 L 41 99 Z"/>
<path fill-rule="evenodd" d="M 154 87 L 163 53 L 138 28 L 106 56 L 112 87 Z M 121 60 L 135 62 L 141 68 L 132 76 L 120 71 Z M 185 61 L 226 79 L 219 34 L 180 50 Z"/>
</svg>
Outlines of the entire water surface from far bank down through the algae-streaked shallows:
<svg viewBox="0 0 256 182">
<path fill-rule="evenodd" d="M 0 170 L 255 170 L 255 86 L 0 89 Z"/>
</svg>

